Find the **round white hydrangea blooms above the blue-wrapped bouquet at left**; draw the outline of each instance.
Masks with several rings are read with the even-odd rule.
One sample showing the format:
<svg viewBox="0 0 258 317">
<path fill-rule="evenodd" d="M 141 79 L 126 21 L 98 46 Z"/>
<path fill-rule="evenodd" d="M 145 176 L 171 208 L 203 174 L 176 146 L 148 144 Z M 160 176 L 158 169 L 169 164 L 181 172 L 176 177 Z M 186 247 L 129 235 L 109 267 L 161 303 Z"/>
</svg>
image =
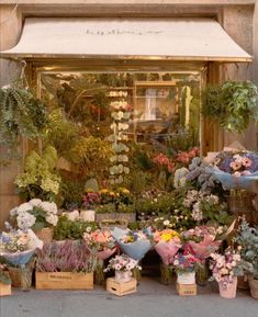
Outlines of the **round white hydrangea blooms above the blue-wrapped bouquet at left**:
<svg viewBox="0 0 258 317">
<path fill-rule="evenodd" d="M 38 199 L 33 199 L 13 208 L 10 216 L 22 230 L 27 228 L 41 230 L 45 227 L 56 226 L 58 222 L 56 204 Z"/>
</svg>

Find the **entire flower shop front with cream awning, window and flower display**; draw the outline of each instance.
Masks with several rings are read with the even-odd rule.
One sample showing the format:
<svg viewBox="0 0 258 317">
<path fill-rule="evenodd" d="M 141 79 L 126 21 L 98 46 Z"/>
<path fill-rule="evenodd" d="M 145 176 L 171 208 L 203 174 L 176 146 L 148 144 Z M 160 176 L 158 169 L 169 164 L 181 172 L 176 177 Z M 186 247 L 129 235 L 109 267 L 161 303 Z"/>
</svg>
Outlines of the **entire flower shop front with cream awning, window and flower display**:
<svg viewBox="0 0 258 317">
<path fill-rule="evenodd" d="M 244 241 L 248 231 L 257 248 L 257 231 L 243 222 L 234 244 L 225 240 L 244 212 L 257 220 L 226 200 L 257 193 L 258 157 L 235 145 L 203 159 L 217 137 L 207 110 L 222 93 L 251 107 L 248 120 L 220 113 L 223 127 L 242 132 L 257 112 L 250 82 L 203 92 L 221 64 L 251 61 L 216 21 L 26 19 L 1 56 L 23 65 L 1 89 L 5 163 L 19 135 L 26 145 L 14 180 L 23 203 L 0 236 L 16 285 L 30 287 L 35 269 L 36 288 L 92 290 L 108 278 L 108 292 L 122 296 L 153 265 L 165 284 L 177 273 L 179 295 L 195 295 L 211 274 L 233 298 L 236 276 L 249 273 L 257 297 L 257 256 Z"/>
</svg>

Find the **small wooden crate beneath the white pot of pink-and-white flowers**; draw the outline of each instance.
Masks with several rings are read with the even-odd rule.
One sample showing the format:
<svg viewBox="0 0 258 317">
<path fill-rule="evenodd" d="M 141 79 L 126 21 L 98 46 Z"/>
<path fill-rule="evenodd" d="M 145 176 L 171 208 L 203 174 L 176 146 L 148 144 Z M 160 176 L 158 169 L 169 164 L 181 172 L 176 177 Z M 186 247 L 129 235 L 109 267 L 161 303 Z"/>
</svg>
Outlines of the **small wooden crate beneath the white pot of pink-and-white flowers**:
<svg viewBox="0 0 258 317">
<path fill-rule="evenodd" d="M 128 282 L 117 282 L 114 278 L 109 278 L 106 280 L 106 291 L 117 296 L 136 293 L 137 281 L 135 279 L 131 279 Z"/>
</svg>

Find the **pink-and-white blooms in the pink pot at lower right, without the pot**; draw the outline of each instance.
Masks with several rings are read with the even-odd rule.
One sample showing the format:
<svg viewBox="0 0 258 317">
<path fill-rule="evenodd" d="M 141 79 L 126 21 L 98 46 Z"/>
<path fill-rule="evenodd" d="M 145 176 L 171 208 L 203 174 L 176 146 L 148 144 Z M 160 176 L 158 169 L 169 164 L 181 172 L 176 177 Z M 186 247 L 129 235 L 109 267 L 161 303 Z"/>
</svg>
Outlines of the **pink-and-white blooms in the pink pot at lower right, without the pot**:
<svg viewBox="0 0 258 317">
<path fill-rule="evenodd" d="M 240 253 L 238 250 L 227 248 L 224 254 L 212 253 L 210 269 L 212 279 L 221 283 L 224 287 L 235 281 L 235 276 L 244 274 Z"/>
</svg>

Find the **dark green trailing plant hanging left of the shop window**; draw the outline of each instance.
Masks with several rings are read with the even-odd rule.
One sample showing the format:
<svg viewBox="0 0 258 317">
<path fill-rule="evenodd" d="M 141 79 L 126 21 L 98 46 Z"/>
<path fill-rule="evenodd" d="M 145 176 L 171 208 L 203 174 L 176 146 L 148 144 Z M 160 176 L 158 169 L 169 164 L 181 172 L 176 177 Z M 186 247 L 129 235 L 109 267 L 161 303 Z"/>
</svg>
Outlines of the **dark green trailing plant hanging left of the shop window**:
<svg viewBox="0 0 258 317">
<path fill-rule="evenodd" d="M 35 139 L 47 125 L 47 112 L 43 102 L 22 83 L 0 89 L 0 146 L 7 148 L 0 163 L 8 163 L 18 156 L 20 137 Z"/>
</svg>

